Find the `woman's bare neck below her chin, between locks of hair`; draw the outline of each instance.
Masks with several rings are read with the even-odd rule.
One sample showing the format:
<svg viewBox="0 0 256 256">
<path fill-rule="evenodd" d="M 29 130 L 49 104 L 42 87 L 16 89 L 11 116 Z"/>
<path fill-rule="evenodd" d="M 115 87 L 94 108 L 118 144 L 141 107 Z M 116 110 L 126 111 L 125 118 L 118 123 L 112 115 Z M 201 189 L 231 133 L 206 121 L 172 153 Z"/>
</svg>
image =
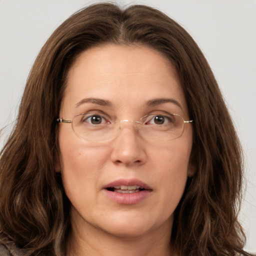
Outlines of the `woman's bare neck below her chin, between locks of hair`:
<svg viewBox="0 0 256 256">
<path fill-rule="evenodd" d="M 111 234 L 88 222 L 71 223 L 72 230 L 66 241 L 66 256 L 176 256 L 170 248 L 170 220 L 164 226 L 136 236 Z"/>
</svg>

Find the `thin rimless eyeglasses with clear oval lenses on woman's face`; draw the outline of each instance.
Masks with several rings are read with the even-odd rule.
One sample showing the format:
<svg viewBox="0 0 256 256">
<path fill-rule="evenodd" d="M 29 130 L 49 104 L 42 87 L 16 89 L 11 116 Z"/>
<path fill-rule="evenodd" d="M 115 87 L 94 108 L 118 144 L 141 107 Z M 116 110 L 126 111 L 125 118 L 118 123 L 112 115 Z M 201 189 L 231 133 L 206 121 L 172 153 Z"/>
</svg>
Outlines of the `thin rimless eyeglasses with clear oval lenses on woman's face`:
<svg viewBox="0 0 256 256">
<path fill-rule="evenodd" d="M 87 141 L 105 142 L 114 139 L 122 129 L 124 123 L 131 123 L 134 130 L 146 139 L 172 140 L 182 135 L 185 121 L 178 114 L 148 114 L 138 121 L 134 120 L 110 120 L 103 113 L 81 113 L 75 115 L 72 120 L 57 118 L 57 122 L 72 123 L 74 133 Z"/>
</svg>

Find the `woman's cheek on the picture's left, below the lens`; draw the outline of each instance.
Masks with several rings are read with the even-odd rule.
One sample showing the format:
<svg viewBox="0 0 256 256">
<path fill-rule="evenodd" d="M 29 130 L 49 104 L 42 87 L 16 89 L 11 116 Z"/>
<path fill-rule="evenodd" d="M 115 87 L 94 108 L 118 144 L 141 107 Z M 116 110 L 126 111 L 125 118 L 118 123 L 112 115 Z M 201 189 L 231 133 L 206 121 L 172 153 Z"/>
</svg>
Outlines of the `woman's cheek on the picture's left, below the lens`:
<svg viewBox="0 0 256 256">
<path fill-rule="evenodd" d="M 91 192 L 96 189 L 99 170 L 108 158 L 107 151 L 87 145 L 78 137 L 68 138 L 61 133 L 59 149 L 60 173 L 69 199 L 79 197 L 84 189 Z"/>
</svg>

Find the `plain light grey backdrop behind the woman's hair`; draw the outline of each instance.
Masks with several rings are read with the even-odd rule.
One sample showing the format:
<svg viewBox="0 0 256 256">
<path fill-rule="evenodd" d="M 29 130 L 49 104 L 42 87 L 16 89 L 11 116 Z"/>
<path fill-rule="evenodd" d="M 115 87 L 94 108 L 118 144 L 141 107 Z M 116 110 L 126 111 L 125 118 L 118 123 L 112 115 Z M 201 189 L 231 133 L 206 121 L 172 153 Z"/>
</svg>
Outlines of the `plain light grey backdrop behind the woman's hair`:
<svg viewBox="0 0 256 256">
<path fill-rule="evenodd" d="M 33 61 L 51 32 L 86 0 L 0 0 L 0 137 L 15 120 Z M 246 249 L 256 251 L 256 1 L 120 0 L 148 4 L 178 21 L 202 49 L 219 83 L 245 154 L 244 201 L 239 218 Z M 203 96 L 203 95 L 202 95 Z"/>
</svg>

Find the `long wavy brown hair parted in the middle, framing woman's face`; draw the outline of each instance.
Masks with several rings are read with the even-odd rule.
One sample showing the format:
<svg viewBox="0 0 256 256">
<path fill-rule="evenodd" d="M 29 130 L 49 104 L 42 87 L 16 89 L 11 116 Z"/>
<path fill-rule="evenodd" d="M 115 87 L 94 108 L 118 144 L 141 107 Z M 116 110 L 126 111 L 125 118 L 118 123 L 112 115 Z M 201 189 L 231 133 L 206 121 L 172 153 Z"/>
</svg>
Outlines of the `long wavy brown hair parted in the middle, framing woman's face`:
<svg viewBox="0 0 256 256">
<path fill-rule="evenodd" d="M 104 43 L 143 44 L 174 65 L 193 124 L 191 163 L 175 210 L 171 244 L 180 255 L 233 255 L 245 236 L 237 221 L 242 158 L 217 82 L 191 36 L 151 7 L 99 3 L 65 20 L 30 71 L 15 127 L 0 156 L 0 237 L 27 255 L 61 255 L 69 232 L 69 201 L 55 172 L 55 119 L 69 67 L 82 51 Z M 243 252 L 244 253 L 244 252 Z"/>
</svg>

